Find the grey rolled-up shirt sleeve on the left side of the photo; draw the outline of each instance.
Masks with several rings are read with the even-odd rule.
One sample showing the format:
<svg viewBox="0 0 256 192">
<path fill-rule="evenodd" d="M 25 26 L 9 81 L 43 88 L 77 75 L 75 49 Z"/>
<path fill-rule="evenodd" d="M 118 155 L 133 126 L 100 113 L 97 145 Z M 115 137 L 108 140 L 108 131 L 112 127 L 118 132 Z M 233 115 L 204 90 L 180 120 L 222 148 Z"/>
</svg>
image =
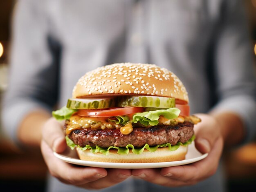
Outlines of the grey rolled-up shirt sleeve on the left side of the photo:
<svg viewBox="0 0 256 192">
<path fill-rule="evenodd" d="M 14 9 L 9 86 L 4 95 L 2 123 L 4 132 L 16 144 L 20 144 L 17 128 L 22 119 L 38 109 L 50 112 L 57 98 L 58 65 L 43 2 L 20 0 Z"/>
</svg>

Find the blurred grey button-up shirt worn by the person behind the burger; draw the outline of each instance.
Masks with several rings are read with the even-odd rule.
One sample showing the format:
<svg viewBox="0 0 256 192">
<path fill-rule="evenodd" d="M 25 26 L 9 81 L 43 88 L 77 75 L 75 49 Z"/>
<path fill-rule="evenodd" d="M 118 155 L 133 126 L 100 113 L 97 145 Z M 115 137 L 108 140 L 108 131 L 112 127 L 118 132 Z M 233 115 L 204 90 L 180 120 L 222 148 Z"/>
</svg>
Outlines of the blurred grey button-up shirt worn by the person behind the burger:
<svg viewBox="0 0 256 192">
<path fill-rule="evenodd" d="M 245 140 L 255 134 L 256 83 L 241 1 L 20 0 L 15 13 L 3 110 L 14 141 L 26 114 L 64 106 L 85 72 L 118 62 L 173 71 L 189 93 L 192 113 L 232 111 L 245 123 Z M 49 183 L 50 191 L 74 191 L 56 179 Z M 222 183 L 218 171 L 189 188 L 129 179 L 106 190 L 222 191 Z"/>
</svg>

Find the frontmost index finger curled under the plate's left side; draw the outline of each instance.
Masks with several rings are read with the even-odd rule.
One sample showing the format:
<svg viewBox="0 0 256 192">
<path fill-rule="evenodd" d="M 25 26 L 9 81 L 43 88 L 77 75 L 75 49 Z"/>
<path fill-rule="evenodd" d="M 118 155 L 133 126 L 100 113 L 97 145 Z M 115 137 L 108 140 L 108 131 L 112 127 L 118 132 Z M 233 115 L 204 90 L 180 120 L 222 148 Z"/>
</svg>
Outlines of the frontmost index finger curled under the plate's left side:
<svg viewBox="0 0 256 192">
<path fill-rule="evenodd" d="M 103 168 L 75 167 L 57 159 L 45 141 L 41 142 L 41 150 L 49 172 L 64 183 L 83 185 L 107 175 L 107 171 Z"/>
</svg>

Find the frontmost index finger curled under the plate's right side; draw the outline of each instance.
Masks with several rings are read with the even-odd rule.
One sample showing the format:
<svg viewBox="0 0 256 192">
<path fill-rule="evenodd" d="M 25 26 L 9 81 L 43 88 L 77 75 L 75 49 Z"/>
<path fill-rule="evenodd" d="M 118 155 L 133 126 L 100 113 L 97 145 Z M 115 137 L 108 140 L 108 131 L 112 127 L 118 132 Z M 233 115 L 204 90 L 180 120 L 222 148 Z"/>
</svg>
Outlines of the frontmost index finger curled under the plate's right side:
<svg viewBox="0 0 256 192">
<path fill-rule="evenodd" d="M 213 175 L 217 168 L 222 153 L 223 140 L 217 139 L 209 155 L 196 163 L 185 166 L 162 168 L 161 174 L 179 181 L 199 182 Z"/>
</svg>

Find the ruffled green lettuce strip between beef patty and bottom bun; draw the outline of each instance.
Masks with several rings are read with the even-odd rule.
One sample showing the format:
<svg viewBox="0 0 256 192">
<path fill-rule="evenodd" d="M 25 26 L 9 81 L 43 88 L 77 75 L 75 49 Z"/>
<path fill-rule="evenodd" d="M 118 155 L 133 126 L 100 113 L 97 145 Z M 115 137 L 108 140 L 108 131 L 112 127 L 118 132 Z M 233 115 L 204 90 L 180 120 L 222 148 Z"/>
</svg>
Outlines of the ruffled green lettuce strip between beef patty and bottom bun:
<svg viewBox="0 0 256 192">
<path fill-rule="evenodd" d="M 87 149 L 90 149 L 90 152 L 93 152 L 93 153 L 97 153 L 97 152 L 100 152 L 102 154 L 105 154 L 105 155 L 108 155 L 109 154 L 109 150 L 110 149 L 117 149 L 117 153 L 118 154 L 128 154 L 129 153 L 129 150 L 131 149 L 132 152 L 134 154 L 141 154 L 144 149 L 147 149 L 149 152 L 154 152 L 157 150 L 157 148 L 159 147 L 168 147 L 170 151 L 175 151 L 177 150 L 180 146 L 187 146 L 189 145 L 190 143 L 192 143 L 192 141 L 195 140 L 195 135 L 193 135 L 188 141 L 186 141 L 185 143 L 181 143 L 181 142 L 178 142 L 176 145 L 171 145 L 170 143 L 165 143 L 165 144 L 162 144 L 162 145 L 157 145 L 157 146 L 153 146 L 153 147 L 150 147 L 148 144 L 145 144 L 144 147 L 141 147 L 141 148 L 134 148 L 133 145 L 129 144 L 127 145 L 126 147 L 122 148 L 122 147 L 115 147 L 115 146 L 110 146 L 109 148 L 101 148 L 99 146 L 95 146 L 95 147 L 91 147 L 89 145 L 86 145 L 85 147 L 80 147 L 79 145 L 76 145 L 68 136 L 66 136 L 66 142 L 67 142 L 67 146 L 69 146 L 72 150 L 75 148 L 75 147 L 78 147 L 78 148 L 81 148 L 81 150 L 87 150 Z"/>
</svg>

